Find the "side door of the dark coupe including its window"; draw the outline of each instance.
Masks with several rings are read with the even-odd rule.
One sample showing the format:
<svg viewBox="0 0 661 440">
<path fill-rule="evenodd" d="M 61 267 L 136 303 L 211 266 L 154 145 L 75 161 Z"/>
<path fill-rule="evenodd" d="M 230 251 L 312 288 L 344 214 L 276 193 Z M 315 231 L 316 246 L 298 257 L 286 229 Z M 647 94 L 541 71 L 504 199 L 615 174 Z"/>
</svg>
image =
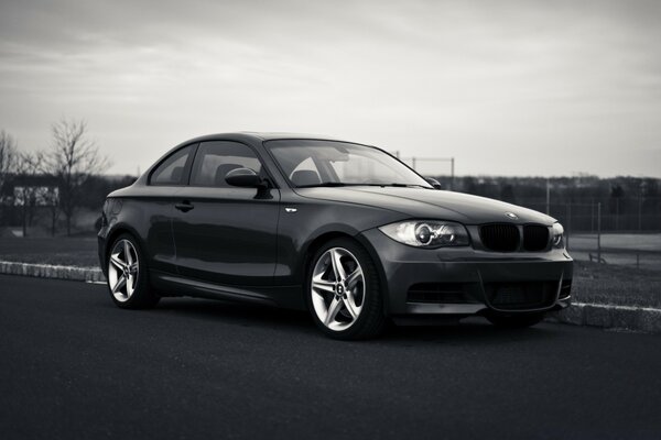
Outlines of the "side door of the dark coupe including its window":
<svg viewBox="0 0 661 440">
<path fill-rule="evenodd" d="M 235 168 L 264 173 L 256 152 L 230 141 L 202 142 L 173 221 L 181 275 L 235 286 L 269 285 L 278 260 L 277 188 L 225 182 Z"/>
</svg>

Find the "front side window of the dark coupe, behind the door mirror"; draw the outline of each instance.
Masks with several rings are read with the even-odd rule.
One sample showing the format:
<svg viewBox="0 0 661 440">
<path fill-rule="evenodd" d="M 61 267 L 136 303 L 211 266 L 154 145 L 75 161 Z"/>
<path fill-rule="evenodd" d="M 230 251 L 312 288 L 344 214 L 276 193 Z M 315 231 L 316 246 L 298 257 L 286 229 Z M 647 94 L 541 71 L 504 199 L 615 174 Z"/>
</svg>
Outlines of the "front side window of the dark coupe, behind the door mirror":
<svg viewBox="0 0 661 440">
<path fill-rule="evenodd" d="M 250 168 L 260 174 L 261 163 L 248 145 L 230 141 L 203 142 L 193 163 L 191 185 L 228 188 L 225 176 L 236 168 Z"/>
</svg>

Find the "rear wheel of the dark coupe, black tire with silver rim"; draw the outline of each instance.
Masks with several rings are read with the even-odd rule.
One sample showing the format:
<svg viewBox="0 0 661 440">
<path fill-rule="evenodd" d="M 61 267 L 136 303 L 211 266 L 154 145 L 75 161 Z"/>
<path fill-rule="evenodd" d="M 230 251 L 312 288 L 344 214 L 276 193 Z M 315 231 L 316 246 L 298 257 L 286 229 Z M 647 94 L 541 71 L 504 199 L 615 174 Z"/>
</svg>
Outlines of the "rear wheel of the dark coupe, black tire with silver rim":
<svg viewBox="0 0 661 440">
<path fill-rule="evenodd" d="M 108 252 L 108 292 L 122 309 L 152 308 L 161 299 L 149 286 L 149 268 L 133 235 L 122 233 Z"/>
</svg>

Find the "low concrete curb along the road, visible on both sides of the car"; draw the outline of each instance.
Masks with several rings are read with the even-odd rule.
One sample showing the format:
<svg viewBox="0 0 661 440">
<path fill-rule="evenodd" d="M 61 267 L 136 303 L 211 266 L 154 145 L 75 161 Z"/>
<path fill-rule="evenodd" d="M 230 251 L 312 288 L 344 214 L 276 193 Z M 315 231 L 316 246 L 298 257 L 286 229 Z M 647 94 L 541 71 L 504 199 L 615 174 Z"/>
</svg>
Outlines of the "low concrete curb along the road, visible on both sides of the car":
<svg viewBox="0 0 661 440">
<path fill-rule="evenodd" d="M 106 282 L 101 270 L 97 267 L 54 266 L 51 264 L 0 261 L 0 274 L 79 282 Z M 661 333 L 661 309 L 649 307 L 573 302 L 567 309 L 550 314 L 546 321 Z"/>
</svg>

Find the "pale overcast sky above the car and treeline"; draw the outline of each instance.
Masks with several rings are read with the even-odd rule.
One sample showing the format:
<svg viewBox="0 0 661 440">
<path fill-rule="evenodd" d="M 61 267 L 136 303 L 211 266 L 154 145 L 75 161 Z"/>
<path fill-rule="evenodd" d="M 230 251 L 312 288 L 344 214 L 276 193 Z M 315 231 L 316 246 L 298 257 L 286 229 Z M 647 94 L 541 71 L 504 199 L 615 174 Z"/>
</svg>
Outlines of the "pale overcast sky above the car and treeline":
<svg viewBox="0 0 661 440">
<path fill-rule="evenodd" d="M 2 0 L 0 129 L 37 150 L 84 118 L 109 173 L 249 130 L 661 177 L 660 23 L 655 0 Z"/>
</svg>

